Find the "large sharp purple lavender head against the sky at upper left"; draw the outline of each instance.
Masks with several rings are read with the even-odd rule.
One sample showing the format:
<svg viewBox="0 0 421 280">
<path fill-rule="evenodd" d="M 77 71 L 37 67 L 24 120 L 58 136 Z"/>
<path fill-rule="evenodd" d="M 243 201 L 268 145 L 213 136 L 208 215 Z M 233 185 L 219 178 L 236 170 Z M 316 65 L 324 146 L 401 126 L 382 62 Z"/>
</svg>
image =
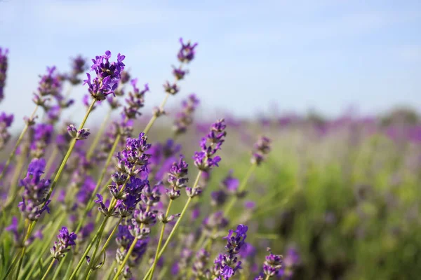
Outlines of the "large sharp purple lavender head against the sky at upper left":
<svg viewBox="0 0 421 280">
<path fill-rule="evenodd" d="M 114 94 L 121 71 L 125 66 L 124 55 L 118 54 L 116 62 L 109 62 L 109 57 L 111 57 L 111 52 L 107 50 L 105 55 L 97 55 L 95 59 L 92 59 L 91 71 L 95 71 L 97 76 L 91 81 L 91 74 L 86 73 L 88 78 L 83 80 L 83 85 L 88 84 L 89 93 L 98 101 L 105 100 L 109 94 Z"/>
</svg>

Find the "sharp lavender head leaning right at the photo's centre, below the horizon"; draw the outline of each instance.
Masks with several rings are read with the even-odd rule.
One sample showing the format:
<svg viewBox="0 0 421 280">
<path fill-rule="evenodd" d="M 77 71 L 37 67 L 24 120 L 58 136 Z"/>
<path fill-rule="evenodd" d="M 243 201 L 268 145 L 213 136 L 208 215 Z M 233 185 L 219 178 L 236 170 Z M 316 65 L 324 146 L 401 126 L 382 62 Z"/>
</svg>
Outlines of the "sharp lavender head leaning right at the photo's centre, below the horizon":
<svg viewBox="0 0 421 280">
<path fill-rule="evenodd" d="M 225 136 L 227 135 L 227 132 L 225 132 L 226 127 L 224 119 L 218 120 L 210 127 L 210 132 L 206 138 L 203 137 L 201 139 L 200 146 L 202 150 L 194 153 L 194 165 L 202 171 L 207 172 L 213 167 L 218 167 L 218 162 L 220 162 L 221 158 L 218 155 L 213 157 L 213 155 L 220 150 L 222 143 L 225 141 Z"/>
</svg>

